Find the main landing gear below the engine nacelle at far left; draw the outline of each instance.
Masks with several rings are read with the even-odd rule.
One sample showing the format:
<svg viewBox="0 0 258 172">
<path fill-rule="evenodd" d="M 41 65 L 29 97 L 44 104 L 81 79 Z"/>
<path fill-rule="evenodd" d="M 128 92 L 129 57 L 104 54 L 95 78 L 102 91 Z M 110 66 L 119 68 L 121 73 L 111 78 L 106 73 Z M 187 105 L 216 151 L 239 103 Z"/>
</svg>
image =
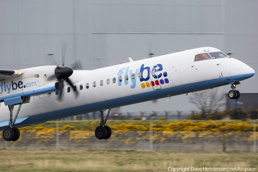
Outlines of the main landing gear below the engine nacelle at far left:
<svg viewBox="0 0 258 172">
<path fill-rule="evenodd" d="M 22 101 L 24 101 L 24 98 L 22 99 Z M 17 141 L 20 137 L 19 129 L 16 128 L 16 127 L 13 127 L 13 125 L 15 124 L 16 118 L 17 118 L 17 116 L 19 114 L 19 111 L 21 109 L 21 104 L 22 103 L 19 103 L 19 107 L 18 107 L 18 110 L 17 110 L 17 113 L 15 115 L 14 120 L 13 120 L 13 107 L 14 107 L 14 105 L 17 105 L 17 104 L 8 105 L 9 111 L 10 111 L 10 121 L 9 121 L 8 127 L 6 127 L 3 130 L 3 138 L 6 141 Z"/>
</svg>

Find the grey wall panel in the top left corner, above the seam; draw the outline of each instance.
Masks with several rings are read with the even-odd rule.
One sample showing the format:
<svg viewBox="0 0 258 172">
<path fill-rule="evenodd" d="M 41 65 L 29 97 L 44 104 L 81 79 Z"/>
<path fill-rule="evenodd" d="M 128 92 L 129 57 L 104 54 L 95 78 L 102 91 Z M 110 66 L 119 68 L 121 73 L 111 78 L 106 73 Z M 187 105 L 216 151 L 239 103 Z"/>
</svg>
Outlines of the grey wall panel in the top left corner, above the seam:
<svg viewBox="0 0 258 172">
<path fill-rule="evenodd" d="M 0 34 L 85 34 L 88 1 L 1 1 Z"/>
</svg>

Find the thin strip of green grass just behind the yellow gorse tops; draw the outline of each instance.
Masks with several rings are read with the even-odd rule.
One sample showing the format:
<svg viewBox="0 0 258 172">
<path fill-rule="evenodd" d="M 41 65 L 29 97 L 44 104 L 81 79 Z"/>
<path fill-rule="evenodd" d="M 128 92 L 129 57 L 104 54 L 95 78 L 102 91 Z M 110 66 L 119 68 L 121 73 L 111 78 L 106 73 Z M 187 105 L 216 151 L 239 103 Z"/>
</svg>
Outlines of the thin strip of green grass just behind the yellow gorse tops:
<svg viewBox="0 0 258 172">
<path fill-rule="evenodd" d="M 186 121 L 194 122 L 194 123 L 210 122 L 210 120 L 186 120 Z M 81 129 L 85 129 L 85 128 L 90 129 L 91 122 L 95 122 L 93 128 L 96 128 L 100 124 L 100 120 L 97 120 L 97 121 L 90 121 L 90 120 L 59 121 L 59 128 L 63 128 L 66 125 L 70 125 L 70 126 L 75 126 L 75 128 L 77 130 L 81 130 Z M 153 124 L 159 124 L 160 122 L 163 122 L 164 124 L 169 124 L 171 122 L 179 122 L 179 121 L 178 120 L 154 120 Z M 240 121 L 240 120 L 223 121 L 223 120 L 220 120 L 219 122 L 226 122 L 227 124 L 234 124 L 234 122 L 241 122 L 241 123 L 247 123 L 249 125 L 253 125 L 253 121 L 251 121 L 251 120 L 250 121 Z M 136 120 L 109 121 L 108 120 L 107 121 L 107 125 L 118 125 L 118 124 L 134 124 L 134 125 L 148 126 L 148 125 L 150 125 L 150 121 L 149 120 L 140 120 L 140 121 L 136 121 Z M 56 128 L 56 121 L 49 121 L 49 122 L 42 123 L 42 124 L 36 124 L 36 125 L 31 126 L 31 128 L 35 128 L 38 126 L 43 126 L 43 127 L 47 127 L 47 128 Z"/>
</svg>

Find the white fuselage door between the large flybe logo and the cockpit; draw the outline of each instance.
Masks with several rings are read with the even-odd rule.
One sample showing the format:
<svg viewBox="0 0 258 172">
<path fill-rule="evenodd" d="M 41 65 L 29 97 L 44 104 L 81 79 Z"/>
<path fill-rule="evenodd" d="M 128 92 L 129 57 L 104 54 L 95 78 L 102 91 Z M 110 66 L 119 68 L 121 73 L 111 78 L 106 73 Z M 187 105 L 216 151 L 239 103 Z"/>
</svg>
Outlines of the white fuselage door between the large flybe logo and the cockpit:
<svg viewBox="0 0 258 172">
<path fill-rule="evenodd" d="M 170 76 L 174 86 L 183 84 L 179 74 L 179 60 L 170 63 Z"/>
</svg>

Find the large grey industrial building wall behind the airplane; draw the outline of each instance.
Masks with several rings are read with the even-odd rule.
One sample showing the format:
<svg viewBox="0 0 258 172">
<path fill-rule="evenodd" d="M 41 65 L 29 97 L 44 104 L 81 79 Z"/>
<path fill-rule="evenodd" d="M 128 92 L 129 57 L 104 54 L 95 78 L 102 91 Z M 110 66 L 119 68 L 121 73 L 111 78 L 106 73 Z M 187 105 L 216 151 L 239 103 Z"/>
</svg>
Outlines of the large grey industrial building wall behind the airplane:
<svg viewBox="0 0 258 172">
<path fill-rule="evenodd" d="M 44 54 L 47 45 L 61 64 L 65 40 L 65 65 L 77 59 L 85 70 L 212 46 L 258 71 L 257 6 L 255 0 L 0 1 L 0 69 L 52 65 Z M 255 75 L 237 88 L 257 93 L 257 80 Z M 195 110 L 189 95 L 121 111 Z"/>
</svg>

